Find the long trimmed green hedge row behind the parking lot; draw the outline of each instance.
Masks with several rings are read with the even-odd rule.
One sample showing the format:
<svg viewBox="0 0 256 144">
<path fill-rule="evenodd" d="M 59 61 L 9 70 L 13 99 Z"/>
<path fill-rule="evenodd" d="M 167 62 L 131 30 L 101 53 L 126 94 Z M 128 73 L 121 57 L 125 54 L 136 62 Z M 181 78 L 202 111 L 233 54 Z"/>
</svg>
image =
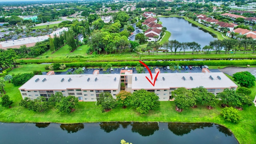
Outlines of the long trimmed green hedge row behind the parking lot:
<svg viewBox="0 0 256 144">
<path fill-rule="evenodd" d="M 256 65 L 256 60 L 204 60 L 204 61 L 143 61 L 148 66 L 170 66 L 171 63 L 179 65 L 209 65 L 209 66 L 228 66 L 228 65 Z M 66 67 L 99 66 L 102 64 L 112 64 L 112 66 L 137 66 L 139 61 L 120 61 L 120 62 L 69 62 Z"/>
</svg>

